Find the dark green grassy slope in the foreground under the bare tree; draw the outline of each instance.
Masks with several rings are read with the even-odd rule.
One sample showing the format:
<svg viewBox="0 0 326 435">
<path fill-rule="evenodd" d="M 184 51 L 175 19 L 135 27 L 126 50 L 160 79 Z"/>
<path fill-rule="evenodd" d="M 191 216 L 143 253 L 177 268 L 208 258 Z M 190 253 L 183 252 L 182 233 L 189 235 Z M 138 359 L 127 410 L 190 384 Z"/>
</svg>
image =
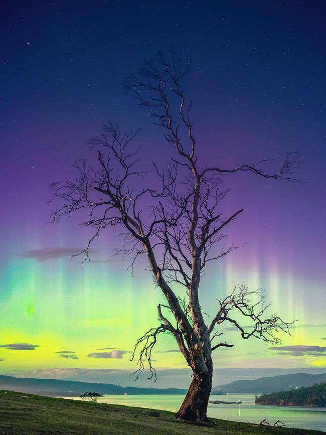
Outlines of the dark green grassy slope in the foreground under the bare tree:
<svg viewBox="0 0 326 435">
<path fill-rule="evenodd" d="M 23 396 L 23 397 L 22 397 Z M 25 396 L 25 397 L 24 397 Z M 152 410 L 150 410 L 152 411 Z M 0 390 L 0 433 L 19 435 L 32 433 L 75 434 L 259 434 L 309 433 L 313 430 L 271 429 L 250 427 L 246 423 L 212 419 L 206 427 L 173 419 L 174 414 L 159 411 L 159 417 L 146 415 L 143 408 L 77 400 L 58 399 Z"/>
</svg>

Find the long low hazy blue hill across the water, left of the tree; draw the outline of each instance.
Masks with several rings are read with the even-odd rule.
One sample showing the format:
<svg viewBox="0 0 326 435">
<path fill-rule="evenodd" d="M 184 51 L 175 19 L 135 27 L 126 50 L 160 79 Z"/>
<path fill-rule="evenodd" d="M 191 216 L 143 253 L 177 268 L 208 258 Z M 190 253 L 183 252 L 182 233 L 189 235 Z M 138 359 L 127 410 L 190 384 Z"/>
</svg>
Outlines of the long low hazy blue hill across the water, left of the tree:
<svg viewBox="0 0 326 435">
<path fill-rule="evenodd" d="M 15 378 L 0 376 L 0 389 L 23 391 L 25 393 L 45 396 L 79 396 L 85 391 L 100 394 L 186 394 L 187 390 L 179 388 L 137 388 L 121 387 L 114 384 L 64 381 L 58 379 Z"/>
</svg>

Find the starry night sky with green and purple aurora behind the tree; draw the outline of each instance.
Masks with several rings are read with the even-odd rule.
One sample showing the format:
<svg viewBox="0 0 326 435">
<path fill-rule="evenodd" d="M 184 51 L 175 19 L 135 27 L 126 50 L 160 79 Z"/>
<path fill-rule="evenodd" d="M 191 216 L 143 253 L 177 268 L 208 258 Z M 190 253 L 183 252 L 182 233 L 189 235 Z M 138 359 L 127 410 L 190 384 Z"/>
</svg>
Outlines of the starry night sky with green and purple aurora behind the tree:
<svg viewBox="0 0 326 435">
<path fill-rule="evenodd" d="M 245 245 L 207 270 L 204 311 L 245 282 L 298 322 L 279 349 L 225 331 L 235 347 L 215 351 L 214 382 L 325 371 L 324 2 L 1 5 L 0 373 L 132 383 L 129 352 L 157 324 L 161 296 L 144 261 L 132 277 L 113 257 L 115 233 L 94 243 L 89 263 L 70 261 L 91 233 L 77 215 L 49 223 L 47 198 L 51 182 L 75 176 L 75 160 L 92 159 L 87 140 L 106 121 L 141 126 L 144 159 L 167 161 L 161 130 L 121 82 L 171 47 L 192 61 L 185 91 L 203 166 L 281 161 L 288 151 L 303 160 L 302 183 L 225 177 L 225 210 L 244 208 L 229 241 Z M 188 386 L 173 339 L 156 349 L 157 386 Z"/>
</svg>

